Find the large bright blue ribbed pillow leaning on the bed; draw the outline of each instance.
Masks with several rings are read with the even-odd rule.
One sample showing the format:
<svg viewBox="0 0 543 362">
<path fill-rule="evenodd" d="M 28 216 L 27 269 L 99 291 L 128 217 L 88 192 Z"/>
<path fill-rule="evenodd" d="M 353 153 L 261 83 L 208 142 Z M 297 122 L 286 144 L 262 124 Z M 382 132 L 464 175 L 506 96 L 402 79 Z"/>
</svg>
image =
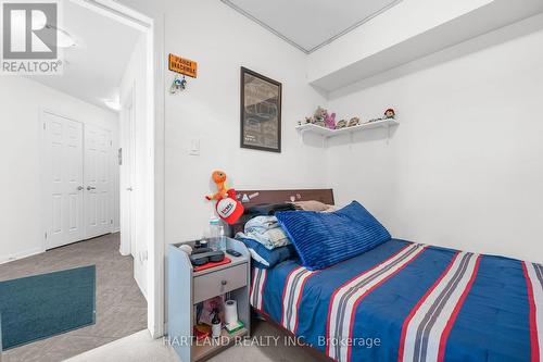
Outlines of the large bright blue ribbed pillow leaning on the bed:
<svg viewBox="0 0 543 362">
<path fill-rule="evenodd" d="M 334 212 L 276 213 L 308 270 L 359 255 L 391 239 L 387 229 L 356 201 Z"/>
</svg>

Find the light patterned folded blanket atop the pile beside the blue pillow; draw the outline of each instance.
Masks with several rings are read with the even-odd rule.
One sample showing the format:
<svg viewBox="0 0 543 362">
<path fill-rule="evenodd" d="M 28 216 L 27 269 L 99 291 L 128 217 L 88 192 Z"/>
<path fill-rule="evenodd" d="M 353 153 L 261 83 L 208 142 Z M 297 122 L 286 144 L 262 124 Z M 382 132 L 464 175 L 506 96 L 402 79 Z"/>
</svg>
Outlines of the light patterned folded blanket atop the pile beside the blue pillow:
<svg viewBox="0 0 543 362">
<path fill-rule="evenodd" d="M 242 237 L 256 240 L 269 250 L 290 244 L 289 237 L 279 226 L 275 216 L 251 219 L 245 224 L 245 233 L 242 234 Z"/>
</svg>

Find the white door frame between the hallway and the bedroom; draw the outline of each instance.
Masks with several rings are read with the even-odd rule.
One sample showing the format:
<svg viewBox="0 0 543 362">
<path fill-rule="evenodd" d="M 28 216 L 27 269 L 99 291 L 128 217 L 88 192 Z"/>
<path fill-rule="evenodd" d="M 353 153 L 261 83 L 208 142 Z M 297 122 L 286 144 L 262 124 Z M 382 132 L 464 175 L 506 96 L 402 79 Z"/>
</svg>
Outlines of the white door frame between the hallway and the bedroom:
<svg viewBox="0 0 543 362">
<path fill-rule="evenodd" d="M 147 37 L 149 150 L 146 151 L 154 170 L 149 173 L 146 202 L 148 210 L 152 210 L 147 221 L 148 329 L 153 338 L 160 338 L 165 330 L 165 13 L 152 7 L 142 13 L 114 0 L 71 1 L 138 28 Z"/>
</svg>

